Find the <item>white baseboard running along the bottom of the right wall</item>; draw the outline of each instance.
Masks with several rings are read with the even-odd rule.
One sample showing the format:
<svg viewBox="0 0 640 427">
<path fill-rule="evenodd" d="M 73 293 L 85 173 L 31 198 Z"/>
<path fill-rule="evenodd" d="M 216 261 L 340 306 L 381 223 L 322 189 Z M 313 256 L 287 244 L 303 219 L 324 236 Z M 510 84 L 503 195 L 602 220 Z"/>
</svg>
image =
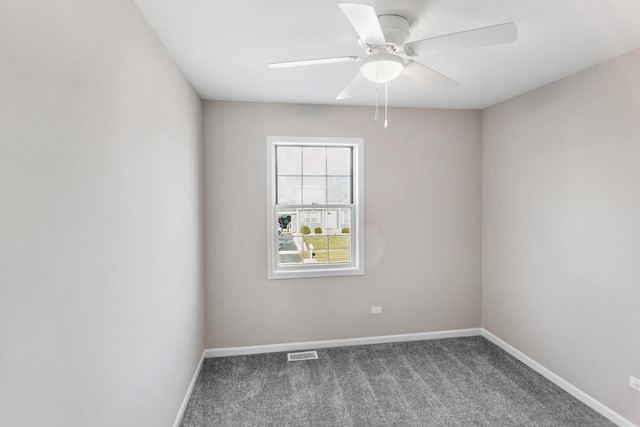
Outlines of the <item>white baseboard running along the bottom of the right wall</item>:
<svg viewBox="0 0 640 427">
<path fill-rule="evenodd" d="M 527 365 L 528 367 L 530 367 L 531 369 L 533 369 L 534 371 L 536 371 L 537 373 L 539 373 L 540 375 L 542 375 L 543 377 L 545 377 L 546 379 L 548 379 L 549 381 L 551 381 L 552 383 L 554 383 L 555 385 L 557 385 L 558 387 L 560 387 L 561 389 L 563 389 L 564 391 L 566 391 L 567 393 L 569 393 L 570 395 L 572 395 L 573 397 L 581 401 L 582 403 L 584 403 L 585 405 L 589 406 L 593 410 L 602 414 L 604 417 L 611 420 L 611 422 L 617 424 L 620 427 L 638 427 L 633 422 L 629 421 L 628 419 L 618 414 L 608 406 L 605 406 L 603 403 L 589 396 L 587 393 L 583 392 L 573 384 L 569 383 L 567 380 L 565 380 L 561 376 L 545 368 L 544 366 L 542 366 L 541 364 L 539 364 L 538 362 L 536 362 L 526 354 L 522 353 L 520 350 L 516 349 L 512 345 L 507 344 L 505 341 L 493 335 L 491 332 L 487 331 L 484 328 L 481 328 L 480 330 L 481 330 L 481 335 L 483 337 L 485 337 L 486 339 L 488 339 L 498 347 L 502 348 L 504 351 L 506 351 L 507 353 L 509 353 L 510 355 L 512 355 L 513 357 L 515 357 L 516 359 L 518 359 L 519 361 L 521 361 L 522 363 L 524 363 L 525 365 Z"/>
</svg>

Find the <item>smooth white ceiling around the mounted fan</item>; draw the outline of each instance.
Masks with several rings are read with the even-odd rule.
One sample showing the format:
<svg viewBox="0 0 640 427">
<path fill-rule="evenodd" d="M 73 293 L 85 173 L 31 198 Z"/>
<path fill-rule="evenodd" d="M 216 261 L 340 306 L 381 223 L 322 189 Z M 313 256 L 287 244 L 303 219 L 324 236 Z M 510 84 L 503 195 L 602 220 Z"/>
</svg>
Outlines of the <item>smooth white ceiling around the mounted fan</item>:
<svg viewBox="0 0 640 427">
<path fill-rule="evenodd" d="M 344 0 L 342 0 L 344 1 Z M 449 90 L 405 76 L 389 105 L 485 108 L 640 48 L 640 0 L 358 0 L 411 22 L 420 40 L 504 22 L 513 44 L 434 54 L 419 62 L 458 81 Z M 340 0 L 134 0 L 203 99 L 374 105 L 370 83 L 335 97 L 359 63 L 270 69 L 270 62 L 362 56 Z"/>
</svg>

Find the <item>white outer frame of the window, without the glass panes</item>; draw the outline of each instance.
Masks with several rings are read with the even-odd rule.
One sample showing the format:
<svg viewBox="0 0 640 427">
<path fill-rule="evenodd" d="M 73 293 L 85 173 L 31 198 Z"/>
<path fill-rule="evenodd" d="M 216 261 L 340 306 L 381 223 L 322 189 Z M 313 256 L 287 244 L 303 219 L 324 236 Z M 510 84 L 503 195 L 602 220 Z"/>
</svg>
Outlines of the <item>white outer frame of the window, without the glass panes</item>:
<svg viewBox="0 0 640 427">
<path fill-rule="evenodd" d="M 353 153 L 351 212 L 351 262 L 345 264 L 304 264 L 278 267 L 278 221 L 276 204 L 276 147 L 303 145 L 318 147 L 350 147 Z M 267 137 L 267 278 L 293 279 L 305 277 L 354 276 L 364 274 L 364 139 L 333 137 Z"/>
</svg>

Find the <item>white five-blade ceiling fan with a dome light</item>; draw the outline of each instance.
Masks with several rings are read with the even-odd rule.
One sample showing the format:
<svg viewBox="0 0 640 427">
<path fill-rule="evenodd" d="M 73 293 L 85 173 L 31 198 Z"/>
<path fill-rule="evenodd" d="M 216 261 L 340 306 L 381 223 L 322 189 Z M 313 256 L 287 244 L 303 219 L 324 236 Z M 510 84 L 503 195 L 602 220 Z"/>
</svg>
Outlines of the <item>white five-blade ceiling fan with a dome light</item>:
<svg viewBox="0 0 640 427">
<path fill-rule="evenodd" d="M 336 97 L 350 98 L 366 80 L 389 82 L 403 74 L 426 85 L 455 87 L 458 83 L 411 58 L 439 52 L 469 49 L 515 42 L 518 30 L 507 22 L 423 40 L 409 41 L 409 21 L 399 15 L 379 15 L 373 6 L 360 3 L 339 3 L 366 51 L 362 57 L 305 59 L 269 64 L 270 68 L 298 67 L 317 64 L 360 61 L 360 72 Z M 385 90 L 386 92 L 386 90 Z M 385 126 L 386 127 L 386 126 Z"/>
</svg>

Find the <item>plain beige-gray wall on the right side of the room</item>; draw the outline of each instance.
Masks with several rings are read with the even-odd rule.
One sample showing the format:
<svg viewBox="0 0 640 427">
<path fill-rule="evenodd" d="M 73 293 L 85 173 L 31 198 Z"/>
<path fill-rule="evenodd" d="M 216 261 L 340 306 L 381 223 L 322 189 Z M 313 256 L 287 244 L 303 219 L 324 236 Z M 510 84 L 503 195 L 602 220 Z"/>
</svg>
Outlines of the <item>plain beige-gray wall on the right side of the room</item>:
<svg viewBox="0 0 640 427">
<path fill-rule="evenodd" d="M 483 326 L 640 424 L 640 51 L 483 112 Z"/>
</svg>

